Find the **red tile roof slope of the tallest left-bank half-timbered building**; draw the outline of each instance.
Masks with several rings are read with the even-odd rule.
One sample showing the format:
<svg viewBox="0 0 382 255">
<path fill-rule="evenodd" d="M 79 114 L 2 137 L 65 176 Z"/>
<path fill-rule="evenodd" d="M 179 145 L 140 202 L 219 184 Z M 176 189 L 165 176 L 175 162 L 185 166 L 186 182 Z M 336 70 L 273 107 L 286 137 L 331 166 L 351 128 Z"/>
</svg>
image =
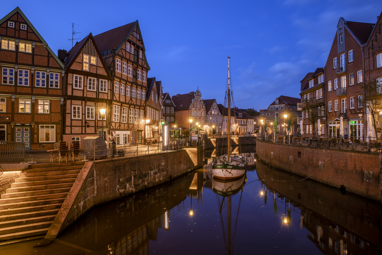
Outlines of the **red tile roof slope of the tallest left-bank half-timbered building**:
<svg viewBox="0 0 382 255">
<path fill-rule="evenodd" d="M 99 51 L 104 52 L 111 49 L 117 49 L 128 36 L 131 28 L 133 28 L 136 22 L 138 22 L 138 20 L 94 36 Z"/>
</svg>

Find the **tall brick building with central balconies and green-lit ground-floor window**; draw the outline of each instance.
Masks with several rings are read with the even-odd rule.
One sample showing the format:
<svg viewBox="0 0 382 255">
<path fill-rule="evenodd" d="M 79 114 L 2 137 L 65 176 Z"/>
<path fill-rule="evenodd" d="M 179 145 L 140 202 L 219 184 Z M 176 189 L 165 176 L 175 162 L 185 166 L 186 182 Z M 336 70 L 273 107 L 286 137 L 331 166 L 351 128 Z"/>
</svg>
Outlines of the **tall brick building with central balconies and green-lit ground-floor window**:
<svg viewBox="0 0 382 255">
<path fill-rule="evenodd" d="M 363 52 L 374 24 L 346 21 L 340 18 L 325 64 L 327 135 L 340 136 L 343 117 L 343 137 L 364 136 L 366 107 L 363 103 Z"/>
</svg>

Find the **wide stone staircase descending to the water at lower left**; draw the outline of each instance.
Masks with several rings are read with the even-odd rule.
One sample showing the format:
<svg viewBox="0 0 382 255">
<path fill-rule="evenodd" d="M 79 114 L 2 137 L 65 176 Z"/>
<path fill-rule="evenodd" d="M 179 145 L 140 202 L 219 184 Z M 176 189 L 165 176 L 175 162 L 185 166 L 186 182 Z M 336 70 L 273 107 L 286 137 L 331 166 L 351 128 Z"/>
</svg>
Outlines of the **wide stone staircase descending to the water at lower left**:
<svg viewBox="0 0 382 255">
<path fill-rule="evenodd" d="M 0 242 L 44 237 L 84 162 L 36 164 L 0 199 Z"/>
</svg>

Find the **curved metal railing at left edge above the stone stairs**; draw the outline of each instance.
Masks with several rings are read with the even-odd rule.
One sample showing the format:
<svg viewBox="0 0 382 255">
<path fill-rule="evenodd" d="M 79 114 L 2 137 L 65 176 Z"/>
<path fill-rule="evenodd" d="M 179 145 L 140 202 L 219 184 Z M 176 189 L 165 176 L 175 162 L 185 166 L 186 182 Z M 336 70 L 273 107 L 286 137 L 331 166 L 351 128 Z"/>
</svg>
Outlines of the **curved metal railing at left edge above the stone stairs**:
<svg viewBox="0 0 382 255">
<path fill-rule="evenodd" d="M 25 143 L 0 141 L 0 162 L 23 162 Z"/>
</svg>

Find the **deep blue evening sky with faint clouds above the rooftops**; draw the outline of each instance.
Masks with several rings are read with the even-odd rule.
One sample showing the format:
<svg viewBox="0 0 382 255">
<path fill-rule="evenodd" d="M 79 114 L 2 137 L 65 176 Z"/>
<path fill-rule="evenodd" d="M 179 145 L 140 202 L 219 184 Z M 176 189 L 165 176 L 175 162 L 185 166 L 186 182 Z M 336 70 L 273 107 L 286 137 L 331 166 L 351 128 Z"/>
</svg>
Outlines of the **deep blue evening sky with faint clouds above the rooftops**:
<svg viewBox="0 0 382 255">
<path fill-rule="evenodd" d="M 299 97 L 306 73 L 324 67 L 338 19 L 375 23 L 382 1 L 5 1 L 19 6 L 57 54 L 84 38 L 138 19 L 151 70 L 170 95 L 196 91 L 223 104 L 227 56 L 235 106 L 264 109 L 280 95 Z M 78 40 L 80 41 L 80 40 Z"/>
</svg>

